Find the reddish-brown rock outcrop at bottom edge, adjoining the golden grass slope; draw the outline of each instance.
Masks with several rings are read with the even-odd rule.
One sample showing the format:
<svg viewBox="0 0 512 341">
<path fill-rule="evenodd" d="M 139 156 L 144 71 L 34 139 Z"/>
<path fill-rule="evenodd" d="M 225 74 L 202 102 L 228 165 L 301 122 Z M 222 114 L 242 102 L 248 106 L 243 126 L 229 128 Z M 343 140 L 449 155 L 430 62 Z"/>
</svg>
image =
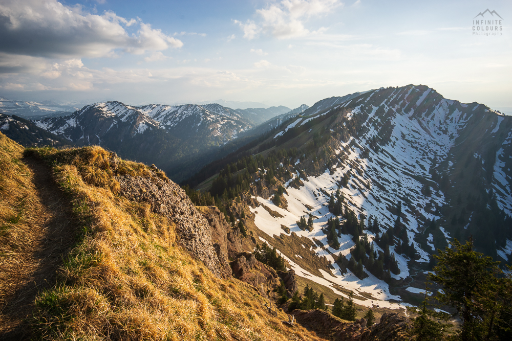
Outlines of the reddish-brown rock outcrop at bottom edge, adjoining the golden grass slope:
<svg viewBox="0 0 512 341">
<path fill-rule="evenodd" d="M 359 341 L 366 320 L 344 322 L 331 313 L 320 310 L 299 310 L 291 312 L 297 323 L 308 330 L 314 331 L 318 336 L 334 341 Z"/>
</svg>

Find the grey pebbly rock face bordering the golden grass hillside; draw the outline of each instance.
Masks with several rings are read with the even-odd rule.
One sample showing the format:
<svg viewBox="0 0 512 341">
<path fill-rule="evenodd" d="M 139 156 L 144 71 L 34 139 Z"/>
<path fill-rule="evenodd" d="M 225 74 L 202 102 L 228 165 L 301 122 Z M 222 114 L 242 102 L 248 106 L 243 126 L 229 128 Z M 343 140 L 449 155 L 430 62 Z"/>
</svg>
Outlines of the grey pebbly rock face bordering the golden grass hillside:
<svg viewBox="0 0 512 341">
<path fill-rule="evenodd" d="M 219 257 L 212 245 L 208 221 L 196 210 L 185 191 L 173 181 L 158 177 L 155 169 L 151 173 L 151 177 L 116 176 L 119 193 L 127 199 L 149 203 L 153 212 L 176 224 L 178 242 L 191 256 L 204 262 L 215 276 L 230 276 L 226 259 Z"/>
</svg>

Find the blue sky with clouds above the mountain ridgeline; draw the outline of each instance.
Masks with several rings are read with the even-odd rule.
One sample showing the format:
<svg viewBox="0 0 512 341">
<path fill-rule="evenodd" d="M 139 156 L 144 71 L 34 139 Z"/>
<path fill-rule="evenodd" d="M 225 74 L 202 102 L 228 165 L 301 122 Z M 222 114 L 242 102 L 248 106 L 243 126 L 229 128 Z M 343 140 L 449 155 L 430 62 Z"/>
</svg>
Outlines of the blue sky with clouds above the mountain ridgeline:
<svg viewBox="0 0 512 341">
<path fill-rule="evenodd" d="M 511 37 L 509 0 L 0 0 L 0 97 L 295 108 L 424 84 L 512 109 Z"/>
</svg>

